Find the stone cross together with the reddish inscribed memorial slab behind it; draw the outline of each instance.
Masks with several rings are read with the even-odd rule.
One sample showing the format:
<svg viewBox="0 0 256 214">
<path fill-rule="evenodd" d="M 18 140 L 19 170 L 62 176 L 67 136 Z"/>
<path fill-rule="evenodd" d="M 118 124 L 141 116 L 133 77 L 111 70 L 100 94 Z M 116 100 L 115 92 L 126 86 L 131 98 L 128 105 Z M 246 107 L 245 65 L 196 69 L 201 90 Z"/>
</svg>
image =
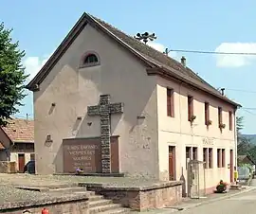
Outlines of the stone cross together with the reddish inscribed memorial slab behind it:
<svg viewBox="0 0 256 214">
<path fill-rule="evenodd" d="M 88 106 L 88 116 L 101 116 L 101 136 L 64 139 L 64 172 L 119 172 L 119 136 L 111 136 L 110 122 L 118 113 L 123 113 L 123 103 L 110 103 L 109 95 L 101 95 L 99 105 Z"/>
</svg>

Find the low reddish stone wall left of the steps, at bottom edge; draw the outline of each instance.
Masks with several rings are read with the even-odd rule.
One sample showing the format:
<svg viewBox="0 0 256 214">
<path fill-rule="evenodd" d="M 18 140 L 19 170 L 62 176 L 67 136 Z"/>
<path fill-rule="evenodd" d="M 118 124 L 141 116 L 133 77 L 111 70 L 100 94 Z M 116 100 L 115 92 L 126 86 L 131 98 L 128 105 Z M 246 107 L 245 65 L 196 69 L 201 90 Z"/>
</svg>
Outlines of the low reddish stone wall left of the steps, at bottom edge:
<svg viewBox="0 0 256 214">
<path fill-rule="evenodd" d="M 0 210 L 0 213 L 9 213 L 9 214 L 21 214 L 25 210 L 29 210 L 32 214 L 41 213 L 42 209 L 46 207 L 49 210 L 49 214 L 89 214 L 88 211 L 88 200 L 80 200 L 80 201 L 70 201 L 58 204 L 49 204 L 49 205 L 40 205 L 40 206 L 30 206 L 26 208 L 19 208 L 15 210 L 11 209 L 3 209 Z M 29 212 L 27 212 L 29 213 Z"/>
</svg>

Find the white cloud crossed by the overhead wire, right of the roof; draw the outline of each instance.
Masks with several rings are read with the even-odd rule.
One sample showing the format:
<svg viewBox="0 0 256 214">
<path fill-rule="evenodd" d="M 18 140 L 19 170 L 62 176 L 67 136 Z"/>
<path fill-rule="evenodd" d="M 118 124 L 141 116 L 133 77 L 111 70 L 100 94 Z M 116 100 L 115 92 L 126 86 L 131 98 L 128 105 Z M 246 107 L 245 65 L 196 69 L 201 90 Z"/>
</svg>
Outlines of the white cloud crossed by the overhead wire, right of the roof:
<svg viewBox="0 0 256 214">
<path fill-rule="evenodd" d="M 229 53 L 256 53 L 256 43 L 222 43 L 215 49 L 216 52 Z M 217 55 L 218 67 L 242 67 L 256 62 L 253 55 Z"/>
</svg>

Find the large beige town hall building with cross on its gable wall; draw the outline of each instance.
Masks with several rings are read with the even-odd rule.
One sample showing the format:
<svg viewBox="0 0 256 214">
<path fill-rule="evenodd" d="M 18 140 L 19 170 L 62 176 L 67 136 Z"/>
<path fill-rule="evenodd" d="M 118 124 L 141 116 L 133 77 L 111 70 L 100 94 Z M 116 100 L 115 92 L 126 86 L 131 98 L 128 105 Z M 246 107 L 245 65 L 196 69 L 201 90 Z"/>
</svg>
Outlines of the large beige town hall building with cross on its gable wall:
<svg viewBox="0 0 256 214">
<path fill-rule="evenodd" d="M 87 13 L 27 88 L 39 174 L 81 167 L 179 180 L 191 158 L 206 162 L 208 189 L 233 181 L 240 105 L 184 59 L 176 62 Z"/>
</svg>

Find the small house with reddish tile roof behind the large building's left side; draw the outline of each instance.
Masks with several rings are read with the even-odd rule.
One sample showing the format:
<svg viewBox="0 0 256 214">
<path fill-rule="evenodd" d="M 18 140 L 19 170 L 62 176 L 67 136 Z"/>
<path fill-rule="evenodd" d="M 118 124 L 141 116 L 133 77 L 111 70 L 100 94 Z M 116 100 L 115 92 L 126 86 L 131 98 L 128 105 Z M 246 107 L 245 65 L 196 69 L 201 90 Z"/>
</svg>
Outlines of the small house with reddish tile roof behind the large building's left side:
<svg viewBox="0 0 256 214">
<path fill-rule="evenodd" d="M 16 162 L 17 170 L 22 172 L 27 162 L 34 159 L 34 121 L 13 118 L 1 130 L 12 142 L 9 160 Z"/>
</svg>

